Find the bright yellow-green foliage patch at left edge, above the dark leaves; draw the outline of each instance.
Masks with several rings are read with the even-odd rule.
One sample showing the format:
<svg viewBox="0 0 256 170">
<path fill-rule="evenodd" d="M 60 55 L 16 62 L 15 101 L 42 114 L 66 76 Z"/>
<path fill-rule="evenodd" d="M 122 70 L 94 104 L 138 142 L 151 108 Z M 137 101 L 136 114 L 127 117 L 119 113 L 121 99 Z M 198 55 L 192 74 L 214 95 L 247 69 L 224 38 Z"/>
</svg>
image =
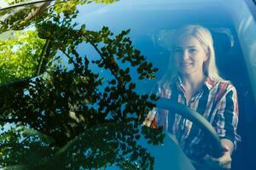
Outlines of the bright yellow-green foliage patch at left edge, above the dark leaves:
<svg viewBox="0 0 256 170">
<path fill-rule="evenodd" d="M 36 75 L 45 40 L 36 31 L 9 31 L 7 37 L 0 40 L 0 83 Z"/>
</svg>

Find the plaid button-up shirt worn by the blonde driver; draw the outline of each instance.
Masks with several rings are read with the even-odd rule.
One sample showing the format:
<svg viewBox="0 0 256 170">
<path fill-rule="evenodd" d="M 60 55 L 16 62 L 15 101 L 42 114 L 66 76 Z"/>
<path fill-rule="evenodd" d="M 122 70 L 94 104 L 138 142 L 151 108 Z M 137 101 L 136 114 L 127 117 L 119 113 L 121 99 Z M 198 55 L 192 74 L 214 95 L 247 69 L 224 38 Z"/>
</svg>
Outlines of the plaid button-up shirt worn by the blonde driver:
<svg viewBox="0 0 256 170">
<path fill-rule="evenodd" d="M 207 77 L 202 88 L 186 101 L 183 84 L 179 78 L 170 85 L 170 88 L 158 89 L 161 98 L 175 99 L 183 105 L 197 111 L 212 124 L 220 139 L 230 139 L 235 145 L 240 140 L 236 133 L 238 122 L 238 103 L 236 88 L 228 81 L 212 81 Z M 149 111 L 143 122 L 148 127 L 163 127 L 172 133 L 180 147 L 190 158 L 198 161 L 207 153 L 207 143 L 201 129 L 193 122 L 175 113 L 154 108 Z"/>
</svg>

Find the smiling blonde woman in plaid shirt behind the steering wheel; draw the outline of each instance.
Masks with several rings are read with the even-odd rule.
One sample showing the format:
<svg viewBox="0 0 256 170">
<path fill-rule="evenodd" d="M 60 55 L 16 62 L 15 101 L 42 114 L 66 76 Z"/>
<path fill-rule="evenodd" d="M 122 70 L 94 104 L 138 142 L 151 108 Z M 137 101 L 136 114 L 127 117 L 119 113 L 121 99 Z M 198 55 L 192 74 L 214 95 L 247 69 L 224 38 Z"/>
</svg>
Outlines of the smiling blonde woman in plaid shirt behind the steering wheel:
<svg viewBox="0 0 256 170">
<path fill-rule="evenodd" d="M 159 82 L 158 94 L 188 105 L 205 116 L 221 139 L 224 155 L 209 156 L 204 134 L 183 116 L 154 109 L 148 113 L 144 124 L 164 127 L 177 138 L 190 158 L 213 168 L 230 168 L 232 151 L 239 140 L 236 88 L 218 75 L 212 35 L 207 28 L 184 26 L 175 35 L 169 70 Z"/>
</svg>

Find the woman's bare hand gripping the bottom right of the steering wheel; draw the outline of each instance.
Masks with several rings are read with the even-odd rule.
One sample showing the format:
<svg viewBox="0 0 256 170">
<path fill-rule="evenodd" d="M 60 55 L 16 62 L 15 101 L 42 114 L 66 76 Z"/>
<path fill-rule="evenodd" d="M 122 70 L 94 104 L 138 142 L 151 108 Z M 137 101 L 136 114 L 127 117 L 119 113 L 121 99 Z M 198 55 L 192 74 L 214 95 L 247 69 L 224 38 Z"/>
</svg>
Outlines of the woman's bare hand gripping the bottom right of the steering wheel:
<svg viewBox="0 0 256 170">
<path fill-rule="evenodd" d="M 221 139 L 221 144 L 224 148 L 224 155 L 218 158 L 212 156 L 205 156 L 205 162 L 211 169 L 230 169 L 231 168 L 231 155 L 234 145 L 229 139 Z"/>
</svg>

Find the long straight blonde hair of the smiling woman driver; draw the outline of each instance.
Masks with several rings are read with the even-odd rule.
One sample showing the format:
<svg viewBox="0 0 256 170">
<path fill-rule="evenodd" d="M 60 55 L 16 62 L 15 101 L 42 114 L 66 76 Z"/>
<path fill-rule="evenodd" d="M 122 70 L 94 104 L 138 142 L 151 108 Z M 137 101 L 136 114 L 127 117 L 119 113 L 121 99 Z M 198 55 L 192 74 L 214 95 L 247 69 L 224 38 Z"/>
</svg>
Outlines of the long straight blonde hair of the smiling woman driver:
<svg viewBox="0 0 256 170">
<path fill-rule="evenodd" d="M 202 48 L 204 48 L 204 50 L 208 55 L 208 59 L 207 61 L 205 61 L 203 65 L 203 72 L 205 76 L 210 77 L 213 81 L 223 80 L 223 78 L 220 77 L 218 74 L 218 68 L 215 62 L 215 53 L 213 48 L 212 34 L 204 26 L 189 25 L 189 26 L 181 27 L 174 34 L 174 38 L 172 39 L 172 47 L 179 37 L 188 36 L 188 35 L 191 35 L 197 38 L 198 41 L 201 42 Z M 170 82 L 172 82 L 172 78 L 177 76 L 177 71 L 176 71 L 175 63 L 173 59 L 173 49 L 170 55 L 171 56 L 169 59 L 169 65 L 168 65 L 166 74 L 160 79 L 160 84 L 162 85 L 164 84 L 165 86 L 166 85 L 169 86 Z"/>
</svg>

